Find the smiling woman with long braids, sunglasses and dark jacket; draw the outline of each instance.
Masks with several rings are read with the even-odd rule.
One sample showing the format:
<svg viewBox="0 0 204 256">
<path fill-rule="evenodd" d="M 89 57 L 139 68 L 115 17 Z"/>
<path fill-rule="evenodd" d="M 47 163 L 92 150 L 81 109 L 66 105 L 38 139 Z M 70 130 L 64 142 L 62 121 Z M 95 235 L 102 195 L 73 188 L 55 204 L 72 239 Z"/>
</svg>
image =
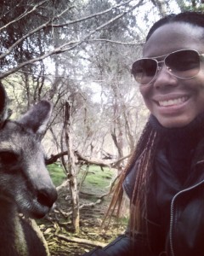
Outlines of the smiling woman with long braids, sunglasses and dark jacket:
<svg viewBox="0 0 204 256">
<path fill-rule="evenodd" d="M 118 183 L 130 198 L 127 234 L 85 255 L 204 255 L 204 15 L 154 24 L 133 77 L 150 110 Z"/>
</svg>

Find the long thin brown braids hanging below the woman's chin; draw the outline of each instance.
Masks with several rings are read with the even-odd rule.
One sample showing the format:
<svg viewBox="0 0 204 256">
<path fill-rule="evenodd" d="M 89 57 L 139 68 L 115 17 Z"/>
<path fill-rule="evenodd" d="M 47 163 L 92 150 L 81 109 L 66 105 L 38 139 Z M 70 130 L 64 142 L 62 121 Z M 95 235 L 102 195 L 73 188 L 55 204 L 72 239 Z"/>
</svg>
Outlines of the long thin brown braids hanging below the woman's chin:
<svg viewBox="0 0 204 256">
<path fill-rule="evenodd" d="M 145 195 L 148 189 L 148 182 L 150 178 L 149 170 L 152 164 L 152 156 L 156 148 L 156 131 L 153 131 L 150 126 L 150 121 L 148 121 L 144 127 L 144 131 L 139 138 L 137 147 L 133 151 L 132 156 L 127 162 L 126 168 L 122 171 L 114 193 L 112 196 L 110 207 L 108 208 L 107 216 L 113 216 L 116 211 L 116 217 L 119 217 L 120 209 L 122 206 L 122 183 L 125 177 L 127 177 L 128 172 L 133 168 L 135 162 L 139 160 L 137 177 L 135 180 L 135 185 L 133 189 L 133 197 L 131 200 L 131 214 L 130 214 L 130 230 L 139 230 L 141 223 L 143 221 L 143 216 L 146 212 L 145 209 Z"/>
</svg>

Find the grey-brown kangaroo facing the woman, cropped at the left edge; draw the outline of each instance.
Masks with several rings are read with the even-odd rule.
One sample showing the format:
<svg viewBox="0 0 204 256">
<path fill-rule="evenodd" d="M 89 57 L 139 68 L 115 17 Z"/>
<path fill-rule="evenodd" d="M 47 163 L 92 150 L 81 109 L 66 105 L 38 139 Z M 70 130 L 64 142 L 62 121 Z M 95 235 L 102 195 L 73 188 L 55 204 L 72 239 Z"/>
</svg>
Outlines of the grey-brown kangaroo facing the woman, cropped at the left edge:
<svg viewBox="0 0 204 256">
<path fill-rule="evenodd" d="M 9 120 L 7 102 L 0 84 L 0 255 L 48 255 L 19 213 L 43 218 L 57 199 L 41 146 L 51 104 L 39 102 L 20 119 Z"/>
</svg>

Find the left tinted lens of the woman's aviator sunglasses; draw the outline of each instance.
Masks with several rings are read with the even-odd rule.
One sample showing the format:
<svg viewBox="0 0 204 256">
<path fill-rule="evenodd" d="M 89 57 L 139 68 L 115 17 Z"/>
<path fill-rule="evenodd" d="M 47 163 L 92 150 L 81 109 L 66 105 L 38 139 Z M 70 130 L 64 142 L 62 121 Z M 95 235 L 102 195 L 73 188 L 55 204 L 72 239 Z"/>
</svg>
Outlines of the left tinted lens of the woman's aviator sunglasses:
<svg viewBox="0 0 204 256">
<path fill-rule="evenodd" d="M 154 79 L 156 70 L 156 60 L 141 59 L 133 63 L 132 74 L 139 84 L 149 84 Z"/>
</svg>

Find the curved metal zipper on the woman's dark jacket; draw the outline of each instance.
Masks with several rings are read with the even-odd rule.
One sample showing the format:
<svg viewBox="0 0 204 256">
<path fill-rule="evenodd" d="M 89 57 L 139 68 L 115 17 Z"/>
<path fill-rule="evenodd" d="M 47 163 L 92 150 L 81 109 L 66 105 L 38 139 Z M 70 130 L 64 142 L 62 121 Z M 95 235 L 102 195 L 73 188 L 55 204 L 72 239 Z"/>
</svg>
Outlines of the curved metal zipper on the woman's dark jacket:
<svg viewBox="0 0 204 256">
<path fill-rule="evenodd" d="M 200 186 L 201 183 L 204 183 L 204 180 L 201 180 L 200 183 L 196 183 L 194 186 L 188 188 L 188 189 L 184 189 L 179 191 L 176 195 L 173 196 L 173 200 L 171 203 L 171 212 L 170 212 L 170 230 L 169 230 L 169 241 L 170 241 L 170 249 L 171 249 L 171 253 L 172 256 L 175 256 L 174 250 L 173 250 L 173 212 L 174 212 L 174 201 L 176 200 L 176 198 L 178 197 L 178 195 L 183 194 L 186 191 L 189 191 L 191 189 L 195 189 L 196 187 Z"/>
</svg>

